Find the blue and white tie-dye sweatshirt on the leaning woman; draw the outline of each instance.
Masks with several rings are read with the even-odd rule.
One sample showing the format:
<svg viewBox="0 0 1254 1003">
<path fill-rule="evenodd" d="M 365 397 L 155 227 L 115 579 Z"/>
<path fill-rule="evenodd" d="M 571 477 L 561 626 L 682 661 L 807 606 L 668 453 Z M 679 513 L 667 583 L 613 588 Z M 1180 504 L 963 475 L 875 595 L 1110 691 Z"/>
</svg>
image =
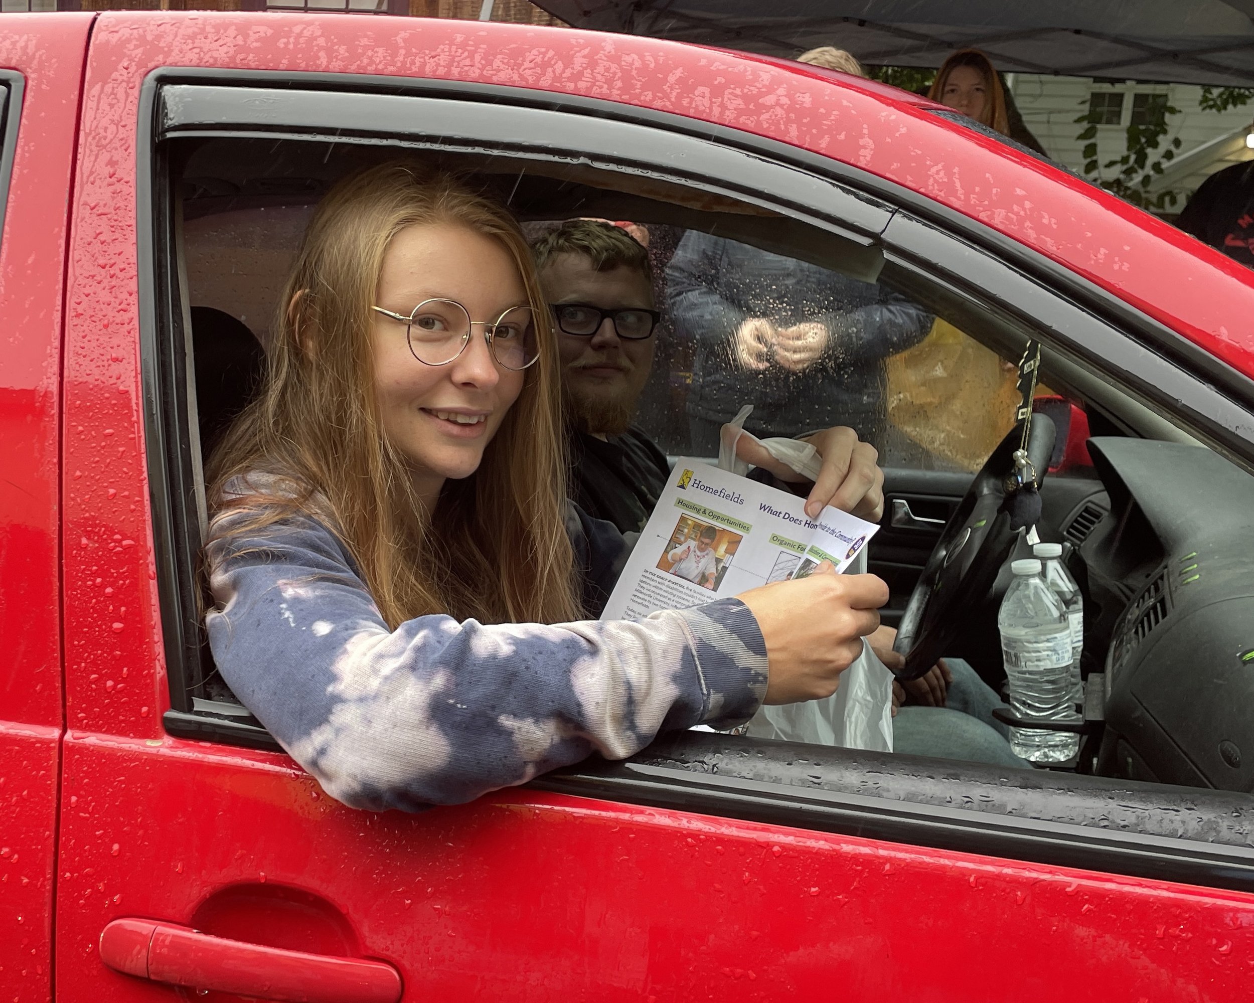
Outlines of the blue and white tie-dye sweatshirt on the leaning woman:
<svg viewBox="0 0 1254 1003">
<path fill-rule="evenodd" d="M 747 721 L 766 691 L 749 608 L 719 599 L 642 621 L 461 623 L 390 631 L 324 522 L 251 537 L 209 530 L 223 680 L 332 797 L 416 811 L 470 801 L 597 751 L 624 759 L 663 730 Z M 627 544 L 572 507 L 586 599 L 603 602 Z"/>
</svg>

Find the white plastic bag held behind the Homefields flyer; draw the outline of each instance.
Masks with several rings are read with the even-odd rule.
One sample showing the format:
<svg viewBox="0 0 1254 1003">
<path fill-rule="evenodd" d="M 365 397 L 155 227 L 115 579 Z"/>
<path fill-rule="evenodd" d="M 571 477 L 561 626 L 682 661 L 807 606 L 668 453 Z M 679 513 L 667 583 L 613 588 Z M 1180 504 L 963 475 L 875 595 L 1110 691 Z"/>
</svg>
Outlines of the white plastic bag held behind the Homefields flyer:
<svg viewBox="0 0 1254 1003">
<path fill-rule="evenodd" d="M 721 469 L 736 474 L 747 471 L 749 465 L 736 459 L 736 440 L 741 435 L 750 435 L 742 426 L 752 410 L 752 405 L 746 404 L 735 419 L 724 425 L 719 449 Z M 757 441 L 803 476 L 810 480 L 818 478 L 821 461 L 809 443 L 796 439 Z M 865 570 L 867 550 L 863 549 L 846 573 L 863 574 Z M 892 752 L 893 673 L 875 657 L 870 644 L 863 641 L 863 653 L 840 673 L 840 686 L 835 693 L 825 700 L 810 700 L 805 703 L 762 706 L 750 720 L 745 733 L 755 738 Z"/>
</svg>

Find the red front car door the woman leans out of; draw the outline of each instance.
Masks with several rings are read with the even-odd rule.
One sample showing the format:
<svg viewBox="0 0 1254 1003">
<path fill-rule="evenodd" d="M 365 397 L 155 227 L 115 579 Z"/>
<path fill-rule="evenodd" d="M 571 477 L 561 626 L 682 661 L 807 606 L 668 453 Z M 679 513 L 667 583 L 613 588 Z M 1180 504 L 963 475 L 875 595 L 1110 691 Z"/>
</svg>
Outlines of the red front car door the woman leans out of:
<svg viewBox="0 0 1254 1003">
<path fill-rule="evenodd" d="M 627 55 L 589 75 L 587 49 L 608 59 L 612 45 Z M 509 100 L 507 85 L 612 97 L 588 81 L 626 65 L 660 92 L 683 74 L 714 84 L 710 59 L 455 23 L 100 16 L 64 347 L 60 999 L 171 999 L 178 984 L 310 1000 L 1240 998 L 1254 895 L 1239 890 L 1249 860 L 1226 846 L 1203 859 L 1154 844 L 1151 859 L 1096 824 L 1020 825 L 966 810 L 964 795 L 924 810 L 836 794 L 786 750 L 746 747 L 737 766 L 715 736 L 461 807 L 360 812 L 266 747 L 242 708 L 183 688 L 199 643 L 197 485 L 179 473 L 194 469 L 187 405 L 167 395 L 186 349 L 154 335 L 178 297 L 153 167 L 161 88 L 237 95 L 251 135 L 334 135 L 349 130 L 327 118 L 332 89 L 367 107 L 425 74 L 449 94 L 465 84 L 473 117 L 470 99 Z M 742 70 L 737 100 L 777 107 L 786 81 Z M 270 110 L 276 83 L 311 89 L 305 119 Z M 423 120 L 409 110 L 396 134 Z M 1224 880 L 1238 890 L 1201 886 Z"/>
</svg>

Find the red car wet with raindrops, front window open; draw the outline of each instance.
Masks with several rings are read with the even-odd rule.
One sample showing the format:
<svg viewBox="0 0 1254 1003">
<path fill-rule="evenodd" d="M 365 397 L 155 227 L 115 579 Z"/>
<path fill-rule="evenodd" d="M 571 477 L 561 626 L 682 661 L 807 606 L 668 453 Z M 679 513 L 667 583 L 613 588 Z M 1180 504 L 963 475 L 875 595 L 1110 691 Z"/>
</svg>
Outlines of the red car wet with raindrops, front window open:
<svg viewBox="0 0 1254 1003">
<path fill-rule="evenodd" d="M 1250 997 L 1248 272 L 947 109 L 780 60 L 107 13 L 6 14 L 0 65 L 0 998 Z M 638 221 L 660 255 L 714 233 L 935 318 L 875 370 L 872 563 L 888 618 L 914 593 L 982 675 L 996 587 L 927 583 L 963 496 L 997 489 L 976 468 L 1004 433 L 998 357 L 1040 341 L 1065 425 L 1040 529 L 1086 599 L 1080 757 L 682 733 L 460 807 L 326 797 L 214 680 L 201 459 L 310 207 L 396 155 L 527 221 Z M 681 333 L 645 411 L 672 451 L 702 392 Z"/>
</svg>

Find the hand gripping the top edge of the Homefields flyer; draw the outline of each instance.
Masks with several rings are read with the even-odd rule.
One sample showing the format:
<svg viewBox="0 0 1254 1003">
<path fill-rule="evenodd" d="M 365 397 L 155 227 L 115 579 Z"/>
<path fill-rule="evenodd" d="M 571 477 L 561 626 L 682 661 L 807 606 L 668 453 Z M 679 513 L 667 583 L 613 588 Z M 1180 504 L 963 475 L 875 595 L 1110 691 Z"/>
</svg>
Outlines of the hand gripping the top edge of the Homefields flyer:
<svg viewBox="0 0 1254 1003">
<path fill-rule="evenodd" d="M 879 453 L 875 446 L 859 441 L 856 431 L 840 425 L 808 435 L 804 441 L 810 443 L 823 458 L 819 479 L 805 501 L 805 514 L 816 519 L 824 505 L 831 505 L 878 523 L 884 514 L 884 471 L 877 464 Z M 780 480 L 791 484 L 805 481 L 801 474 L 747 436 L 740 436 L 736 455 L 747 464 L 770 470 Z"/>
</svg>

